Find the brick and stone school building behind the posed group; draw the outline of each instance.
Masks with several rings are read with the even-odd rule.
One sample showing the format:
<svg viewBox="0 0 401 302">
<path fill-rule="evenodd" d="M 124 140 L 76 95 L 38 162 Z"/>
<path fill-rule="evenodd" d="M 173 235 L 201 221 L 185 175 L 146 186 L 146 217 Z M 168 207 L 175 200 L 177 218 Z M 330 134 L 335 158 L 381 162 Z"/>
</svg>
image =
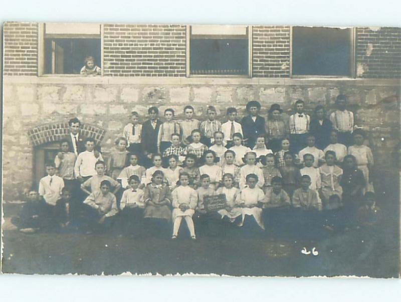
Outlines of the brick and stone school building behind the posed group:
<svg viewBox="0 0 401 302">
<path fill-rule="evenodd" d="M 86 55 L 102 75 L 80 76 Z M 135 24 L 4 25 L 5 198 L 43 176 L 65 122 L 78 116 L 107 152 L 132 110 L 176 110 L 200 118 L 256 99 L 292 110 L 333 107 L 348 96 L 356 123 L 368 130 L 377 168 L 396 173 L 399 144 L 401 28 L 189 26 Z M 379 182 L 379 179 L 376 180 Z M 377 184 L 379 185 L 379 183 Z"/>
</svg>

